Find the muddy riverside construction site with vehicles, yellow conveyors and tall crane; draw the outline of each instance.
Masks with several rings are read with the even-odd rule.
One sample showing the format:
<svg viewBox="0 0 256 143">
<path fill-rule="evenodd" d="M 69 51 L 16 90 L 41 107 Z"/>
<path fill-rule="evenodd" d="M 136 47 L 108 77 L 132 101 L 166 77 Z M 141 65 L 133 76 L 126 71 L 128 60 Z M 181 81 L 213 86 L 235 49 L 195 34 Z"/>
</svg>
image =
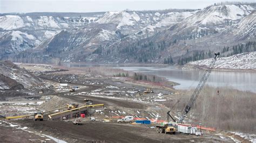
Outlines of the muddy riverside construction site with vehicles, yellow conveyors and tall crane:
<svg viewBox="0 0 256 143">
<path fill-rule="evenodd" d="M 170 87 L 86 74 L 82 69 L 19 65 L 48 86 L 1 90 L 1 142 L 250 141 L 202 124 L 193 111 L 218 56 L 185 104 L 180 103 L 180 91 Z"/>
</svg>

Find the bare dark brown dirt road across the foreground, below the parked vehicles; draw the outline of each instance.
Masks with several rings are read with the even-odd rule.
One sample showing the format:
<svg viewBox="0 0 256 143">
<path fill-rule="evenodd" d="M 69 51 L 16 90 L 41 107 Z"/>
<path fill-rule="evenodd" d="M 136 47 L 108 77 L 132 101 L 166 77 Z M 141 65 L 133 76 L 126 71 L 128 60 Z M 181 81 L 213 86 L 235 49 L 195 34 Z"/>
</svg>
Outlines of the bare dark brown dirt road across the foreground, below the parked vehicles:
<svg viewBox="0 0 256 143">
<path fill-rule="evenodd" d="M 160 134 L 150 126 L 118 123 L 86 122 L 73 125 L 65 121 L 18 120 L 16 124 L 28 126 L 34 130 L 58 137 L 68 142 L 190 142 L 190 141 L 224 141 L 214 134 L 204 137 L 187 134 Z M 231 141 L 231 140 L 225 140 Z"/>
</svg>

